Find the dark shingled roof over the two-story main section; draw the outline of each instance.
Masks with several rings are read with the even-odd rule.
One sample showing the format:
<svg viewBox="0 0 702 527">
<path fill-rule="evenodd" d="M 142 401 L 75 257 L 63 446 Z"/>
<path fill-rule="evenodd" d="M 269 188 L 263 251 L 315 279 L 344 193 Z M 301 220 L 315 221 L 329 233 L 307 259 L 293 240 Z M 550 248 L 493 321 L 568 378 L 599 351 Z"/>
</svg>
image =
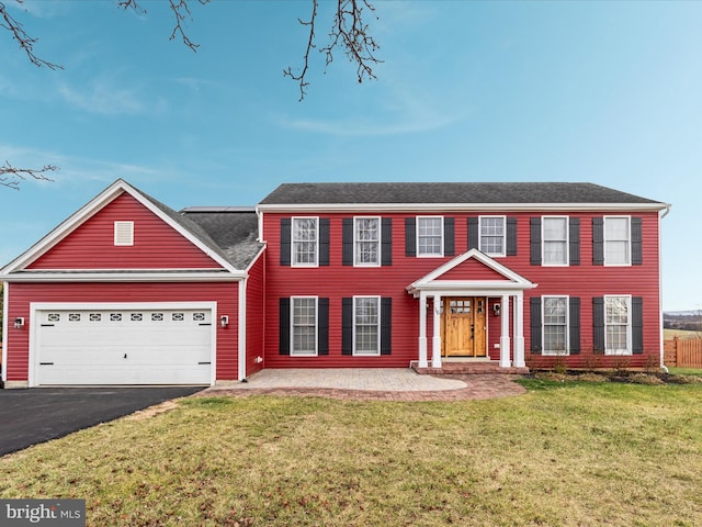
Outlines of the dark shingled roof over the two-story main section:
<svg viewBox="0 0 702 527">
<path fill-rule="evenodd" d="M 371 203 L 661 204 L 593 183 L 283 183 L 261 205 Z"/>
</svg>

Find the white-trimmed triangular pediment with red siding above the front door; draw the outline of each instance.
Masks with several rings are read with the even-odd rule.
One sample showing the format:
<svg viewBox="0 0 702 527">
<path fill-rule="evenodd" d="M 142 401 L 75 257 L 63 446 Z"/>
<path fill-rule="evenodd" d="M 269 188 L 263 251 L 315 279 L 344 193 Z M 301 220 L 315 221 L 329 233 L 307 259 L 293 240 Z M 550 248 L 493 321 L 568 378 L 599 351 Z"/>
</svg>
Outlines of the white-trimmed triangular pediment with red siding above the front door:
<svg viewBox="0 0 702 527">
<path fill-rule="evenodd" d="M 415 298 L 423 292 L 479 291 L 483 294 L 533 289 L 537 284 L 478 249 L 456 256 L 407 287 Z"/>
</svg>

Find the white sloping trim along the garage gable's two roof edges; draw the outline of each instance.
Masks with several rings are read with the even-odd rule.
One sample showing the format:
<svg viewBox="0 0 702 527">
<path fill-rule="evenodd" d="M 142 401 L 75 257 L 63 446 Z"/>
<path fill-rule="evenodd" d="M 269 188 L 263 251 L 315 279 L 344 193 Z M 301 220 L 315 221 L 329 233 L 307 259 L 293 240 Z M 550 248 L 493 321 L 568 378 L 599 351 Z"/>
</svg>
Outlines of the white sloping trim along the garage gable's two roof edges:
<svg viewBox="0 0 702 527">
<path fill-rule="evenodd" d="M 70 233 L 72 233 L 76 228 L 91 218 L 98 211 L 110 204 L 113 200 L 120 197 L 122 193 L 128 193 L 132 198 L 138 201 L 141 205 L 148 209 L 151 213 L 158 216 L 166 224 L 171 226 L 176 232 L 178 232 L 181 236 L 191 242 L 195 247 L 197 247 L 201 251 L 203 251 L 206 256 L 212 258 L 215 262 L 222 266 L 229 272 L 236 273 L 238 270 L 220 257 L 218 254 L 213 251 L 210 247 L 203 244 L 197 237 L 192 235 L 189 231 L 182 227 L 180 224 L 174 222 L 168 214 L 161 211 L 158 206 L 156 206 L 149 199 L 147 199 L 140 191 L 132 187 L 129 183 L 122 179 L 117 179 L 114 183 L 103 190 L 100 194 L 93 198 L 90 202 L 83 205 L 81 209 L 76 211 L 72 215 L 70 215 L 67 220 L 56 226 L 52 232 L 49 232 L 46 236 L 39 239 L 34 246 L 24 251 L 22 255 L 16 257 L 5 267 L 0 269 L 0 276 L 8 274 L 13 271 L 18 271 L 26 268 L 37 258 L 46 254 L 49 249 L 55 247 L 59 242 L 66 238 Z"/>
</svg>

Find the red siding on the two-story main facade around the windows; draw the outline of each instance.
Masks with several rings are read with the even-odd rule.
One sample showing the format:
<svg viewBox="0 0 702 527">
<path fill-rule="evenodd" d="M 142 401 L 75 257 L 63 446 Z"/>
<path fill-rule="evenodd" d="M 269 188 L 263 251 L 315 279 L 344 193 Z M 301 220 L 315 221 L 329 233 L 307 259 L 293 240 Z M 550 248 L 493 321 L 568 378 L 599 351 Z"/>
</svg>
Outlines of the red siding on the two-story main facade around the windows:
<svg viewBox="0 0 702 527">
<path fill-rule="evenodd" d="M 441 214 L 435 211 L 435 214 Z M 427 212 L 427 214 L 431 214 Z M 503 211 L 480 212 L 480 215 L 501 215 Z M 611 213 L 607 213 L 610 215 Z M 622 213 L 623 214 L 623 213 Z M 405 217 L 414 214 L 383 214 L 393 218 L 393 266 L 354 268 L 341 265 L 341 220 L 352 214 L 309 214 L 330 218 L 330 265 L 318 268 L 293 268 L 280 265 L 280 220 L 292 214 L 264 214 L 263 239 L 267 249 L 267 323 L 265 366 L 280 367 L 406 367 L 418 358 L 419 307 L 418 300 L 406 292 L 406 287 L 437 267 L 454 258 L 417 258 L 405 256 Z M 302 215 L 302 214 L 298 214 Z M 374 215 L 374 214 L 371 214 Z M 376 215 L 376 214 L 375 214 Z M 455 218 L 455 255 L 468 250 L 467 217 L 478 214 L 445 214 Z M 496 258 L 498 262 L 537 284 L 524 292 L 524 348 L 528 366 L 552 366 L 556 358 L 532 356 L 530 352 L 530 298 L 543 294 L 563 294 L 580 298 L 581 352 L 566 359 L 571 367 L 592 362 L 592 298 L 604 294 L 631 294 L 644 298 L 644 355 L 627 357 L 597 356 L 604 367 L 629 361 L 631 367 L 643 367 L 657 360 L 660 352 L 660 303 L 658 258 L 658 213 L 633 213 L 643 218 L 642 266 L 603 267 L 592 265 L 592 217 L 604 213 L 573 213 L 550 211 L 548 215 L 570 215 L 580 218 L 580 265 L 568 267 L 542 267 L 530 264 L 530 217 L 539 213 L 510 213 L 518 218 L 517 256 Z M 446 277 L 477 279 L 497 278 L 476 261 L 444 274 Z M 393 354 L 390 356 L 361 358 L 341 355 L 341 299 L 353 295 L 382 295 L 393 298 Z M 329 298 L 329 356 L 295 358 L 279 355 L 279 299 L 294 295 Z M 497 299 L 496 301 L 499 301 Z M 510 310 L 510 328 L 512 326 Z M 429 318 L 429 322 L 431 318 Z M 499 343 L 499 318 L 489 315 L 488 352 L 499 357 L 494 347 Z M 429 337 L 431 324 L 428 324 Z M 512 339 L 513 341 L 513 339 Z M 431 347 L 429 340 L 429 347 Z"/>
</svg>

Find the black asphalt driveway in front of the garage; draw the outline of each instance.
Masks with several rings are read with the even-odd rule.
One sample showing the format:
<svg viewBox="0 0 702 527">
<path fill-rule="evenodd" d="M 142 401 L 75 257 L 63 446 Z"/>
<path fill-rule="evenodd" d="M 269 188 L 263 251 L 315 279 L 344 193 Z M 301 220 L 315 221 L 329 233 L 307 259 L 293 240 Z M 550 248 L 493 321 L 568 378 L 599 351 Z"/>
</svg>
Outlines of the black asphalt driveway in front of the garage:
<svg viewBox="0 0 702 527">
<path fill-rule="evenodd" d="M 0 456 L 201 390 L 202 386 L 0 390 Z"/>
</svg>

